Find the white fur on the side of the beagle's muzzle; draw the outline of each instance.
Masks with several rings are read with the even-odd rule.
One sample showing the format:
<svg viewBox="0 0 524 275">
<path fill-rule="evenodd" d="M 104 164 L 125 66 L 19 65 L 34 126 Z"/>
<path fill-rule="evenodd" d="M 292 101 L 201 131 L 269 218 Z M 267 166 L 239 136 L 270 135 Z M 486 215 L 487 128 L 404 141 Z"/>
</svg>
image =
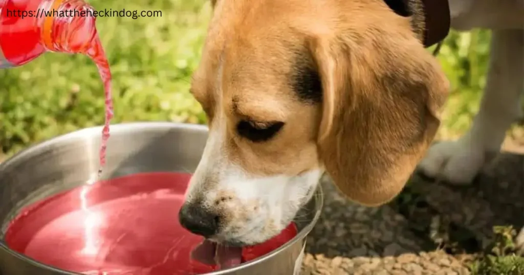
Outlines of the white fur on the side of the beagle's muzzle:
<svg viewBox="0 0 524 275">
<path fill-rule="evenodd" d="M 216 191 L 210 191 L 206 198 L 213 201 L 217 193 L 233 193 L 231 208 L 242 208 L 243 214 L 248 218 L 232 221 L 221 235 L 245 243 L 258 243 L 288 226 L 300 207 L 311 199 L 311 191 L 319 183 L 322 173 L 321 170 L 312 170 L 294 177 L 252 177 L 241 168 L 230 166 L 224 170 L 224 177 L 217 184 Z M 253 202 L 259 205 L 256 210 L 245 207 Z"/>
</svg>

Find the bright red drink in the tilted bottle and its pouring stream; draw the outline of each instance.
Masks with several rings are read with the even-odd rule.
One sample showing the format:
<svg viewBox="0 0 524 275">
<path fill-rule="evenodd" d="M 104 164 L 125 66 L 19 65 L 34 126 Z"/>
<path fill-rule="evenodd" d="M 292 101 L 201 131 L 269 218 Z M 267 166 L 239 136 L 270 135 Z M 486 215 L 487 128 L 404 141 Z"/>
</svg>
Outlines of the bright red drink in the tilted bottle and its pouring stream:
<svg viewBox="0 0 524 275">
<path fill-rule="evenodd" d="M 100 170 L 113 117 L 111 71 L 95 26 L 96 12 L 83 0 L 0 0 L 0 69 L 17 67 L 45 52 L 82 53 L 99 69 L 105 90 Z"/>
</svg>

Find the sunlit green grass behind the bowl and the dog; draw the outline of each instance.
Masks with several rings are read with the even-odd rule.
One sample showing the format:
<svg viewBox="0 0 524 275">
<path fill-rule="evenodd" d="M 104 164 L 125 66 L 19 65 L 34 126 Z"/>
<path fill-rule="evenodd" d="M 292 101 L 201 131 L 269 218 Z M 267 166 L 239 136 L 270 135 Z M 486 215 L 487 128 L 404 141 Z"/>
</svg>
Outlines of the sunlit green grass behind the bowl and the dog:
<svg viewBox="0 0 524 275">
<path fill-rule="evenodd" d="M 206 0 L 91 0 L 97 10 L 160 10 L 161 17 L 99 17 L 97 28 L 114 76 L 112 123 L 163 120 L 203 123 L 188 92 L 211 6 Z M 484 86 L 489 34 L 452 32 L 438 59 L 453 91 L 439 137 L 454 138 L 470 124 Z M 34 142 L 103 123 L 102 84 L 85 56 L 46 53 L 0 70 L 0 155 Z"/>
</svg>

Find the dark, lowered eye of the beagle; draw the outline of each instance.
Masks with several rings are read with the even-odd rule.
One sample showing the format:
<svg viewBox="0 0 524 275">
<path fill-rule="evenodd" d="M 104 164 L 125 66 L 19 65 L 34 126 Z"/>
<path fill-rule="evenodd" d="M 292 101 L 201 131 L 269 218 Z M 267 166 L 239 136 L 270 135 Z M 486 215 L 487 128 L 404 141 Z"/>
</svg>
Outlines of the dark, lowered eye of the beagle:
<svg viewBox="0 0 524 275">
<path fill-rule="evenodd" d="M 283 122 L 253 122 L 241 120 L 236 126 L 238 135 L 253 142 L 267 141 L 274 137 L 284 126 Z"/>
</svg>

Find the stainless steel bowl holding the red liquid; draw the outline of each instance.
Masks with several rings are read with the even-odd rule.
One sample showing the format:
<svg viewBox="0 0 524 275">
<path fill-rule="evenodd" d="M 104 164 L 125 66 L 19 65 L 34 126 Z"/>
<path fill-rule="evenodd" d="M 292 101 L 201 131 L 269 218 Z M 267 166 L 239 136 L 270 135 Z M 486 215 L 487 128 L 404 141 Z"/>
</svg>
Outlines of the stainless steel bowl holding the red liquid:
<svg viewBox="0 0 524 275">
<path fill-rule="evenodd" d="M 4 234 L 20 208 L 85 184 L 99 168 L 101 127 L 59 136 L 21 151 L 0 164 L 0 274 L 79 275 L 44 265 L 9 249 Z M 198 165 L 208 128 L 192 124 L 129 123 L 113 125 L 102 177 L 111 179 L 137 172 L 192 172 Z M 210 274 L 297 274 L 305 237 L 319 218 L 322 191 L 299 213 L 299 234 L 286 245 L 232 269 Z M 52 253 L 53 248 L 49 247 Z"/>
</svg>

